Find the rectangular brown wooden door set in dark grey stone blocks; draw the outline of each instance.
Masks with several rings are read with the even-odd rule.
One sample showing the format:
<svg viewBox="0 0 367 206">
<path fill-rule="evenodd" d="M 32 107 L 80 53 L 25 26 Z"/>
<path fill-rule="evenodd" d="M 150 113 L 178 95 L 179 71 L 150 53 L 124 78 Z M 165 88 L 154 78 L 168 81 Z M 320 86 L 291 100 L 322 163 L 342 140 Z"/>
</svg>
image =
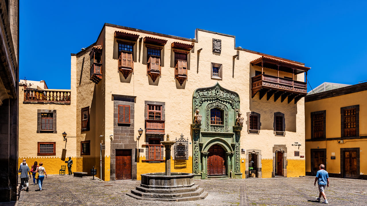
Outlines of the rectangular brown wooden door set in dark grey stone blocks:
<svg viewBox="0 0 367 206">
<path fill-rule="evenodd" d="M 116 150 L 116 180 L 131 180 L 131 150 Z"/>
</svg>

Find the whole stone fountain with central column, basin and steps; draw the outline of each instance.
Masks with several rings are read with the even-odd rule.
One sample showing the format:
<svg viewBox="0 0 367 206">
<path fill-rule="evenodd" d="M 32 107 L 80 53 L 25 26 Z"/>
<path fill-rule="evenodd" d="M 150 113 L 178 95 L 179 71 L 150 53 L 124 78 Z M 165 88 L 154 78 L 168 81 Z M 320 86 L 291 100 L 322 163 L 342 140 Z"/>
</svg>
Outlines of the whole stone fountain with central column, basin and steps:
<svg viewBox="0 0 367 206">
<path fill-rule="evenodd" d="M 176 141 L 161 141 L 166 149 L 166 172 L 141 174 L 141 184 L 127 195 L 151 201 L 192 201 L 204 199 L 208 192 L 195 185 L 193 173 L 171 173 L 171 147 Z"/>
</svg>

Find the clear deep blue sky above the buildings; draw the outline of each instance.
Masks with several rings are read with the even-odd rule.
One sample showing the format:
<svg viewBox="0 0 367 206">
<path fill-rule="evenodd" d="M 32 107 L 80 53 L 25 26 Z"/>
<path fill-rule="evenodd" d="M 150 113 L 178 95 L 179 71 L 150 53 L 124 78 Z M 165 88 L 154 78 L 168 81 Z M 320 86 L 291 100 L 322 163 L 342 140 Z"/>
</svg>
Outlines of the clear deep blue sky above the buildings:
<svg viewBox="0 0 367 206">
<path fill-rule="evenodd" d="M 312 67 L 312 88 L 367 80 L 367 1 L 223 2 L 23 0 L 19 78 L 70 89 L 70 53 L 94 43 L 106 22 L 186 38 L 196 28 L 235 35 L 236 46 Z"/>
</svg>

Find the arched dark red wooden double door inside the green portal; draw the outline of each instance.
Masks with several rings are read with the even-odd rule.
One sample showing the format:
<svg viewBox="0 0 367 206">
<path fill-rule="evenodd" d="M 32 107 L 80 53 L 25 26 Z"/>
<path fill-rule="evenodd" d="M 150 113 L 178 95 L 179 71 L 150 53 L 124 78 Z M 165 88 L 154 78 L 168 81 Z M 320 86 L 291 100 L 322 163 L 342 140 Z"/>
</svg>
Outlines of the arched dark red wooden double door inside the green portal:
<svg viewBox="0 0 367 206">
<path fill-rule="evenodd" d="M 218 144 L 215 144 L 209 148 L 208 152 L 208 175 L 225 175 L 226 167 L 224 164 L 224 149 Z"/>
</svg>

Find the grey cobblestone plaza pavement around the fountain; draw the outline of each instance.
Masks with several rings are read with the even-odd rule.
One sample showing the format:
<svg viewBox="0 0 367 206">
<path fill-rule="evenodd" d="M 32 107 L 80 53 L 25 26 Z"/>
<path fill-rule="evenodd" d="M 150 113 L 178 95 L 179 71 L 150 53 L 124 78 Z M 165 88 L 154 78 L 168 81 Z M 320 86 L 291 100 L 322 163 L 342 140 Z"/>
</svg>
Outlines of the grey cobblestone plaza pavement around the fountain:
<svg viewBox="0 0 367 206">
<path fill-rule="evenodd" d="M 314 177 L 195 180 L 209 195 L 204 200 L 188 202 L 139 201 L 126 193 L 140 184 L 140 181 L 121 180 L 101 182 L 90 177 L 48 175 L 43 190 L 30 185 L 29 191 L 22 191 L 18 205 L 323 205 L 315 201 L 317 187 Z M 20 180 L 19 180 L 20 182 Z M 366 205 L 367 181 L 356 179 L 330 178 L 326 188 L 328 205 Z M 321 198 L 322 199 L 322 198 Z"/>
</svg>

